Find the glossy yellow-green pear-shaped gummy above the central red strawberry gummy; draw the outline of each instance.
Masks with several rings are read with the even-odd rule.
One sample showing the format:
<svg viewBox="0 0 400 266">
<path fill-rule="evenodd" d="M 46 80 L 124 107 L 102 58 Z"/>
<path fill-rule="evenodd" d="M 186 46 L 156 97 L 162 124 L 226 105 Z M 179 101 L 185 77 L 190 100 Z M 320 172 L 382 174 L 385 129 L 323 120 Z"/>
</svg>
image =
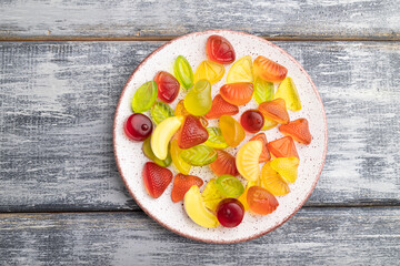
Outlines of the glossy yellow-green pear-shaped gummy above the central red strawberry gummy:
<svg viewBox="0 0 400 266">
<path fill-rule="evenodd" d="M 183 100 L 184 109 L 197 116 L 204 115 L 211 110 L 211 84 L 208 80 L 198 81 Z"/>
</svg>

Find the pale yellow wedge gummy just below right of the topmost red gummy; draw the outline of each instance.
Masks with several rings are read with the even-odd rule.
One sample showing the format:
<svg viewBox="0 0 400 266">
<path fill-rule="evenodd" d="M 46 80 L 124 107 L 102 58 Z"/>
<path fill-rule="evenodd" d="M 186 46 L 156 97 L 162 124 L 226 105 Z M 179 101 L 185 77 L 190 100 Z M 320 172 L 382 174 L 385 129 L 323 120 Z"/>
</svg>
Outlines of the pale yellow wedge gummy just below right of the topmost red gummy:
<svg viewBox="0 0 400 266">
<path fill-rule="evenodd" d="M 227 83 L 253 82 L 253 66 L 250 55 L 239 59 L 230 68 L 227 75 Z"/>
</svg>

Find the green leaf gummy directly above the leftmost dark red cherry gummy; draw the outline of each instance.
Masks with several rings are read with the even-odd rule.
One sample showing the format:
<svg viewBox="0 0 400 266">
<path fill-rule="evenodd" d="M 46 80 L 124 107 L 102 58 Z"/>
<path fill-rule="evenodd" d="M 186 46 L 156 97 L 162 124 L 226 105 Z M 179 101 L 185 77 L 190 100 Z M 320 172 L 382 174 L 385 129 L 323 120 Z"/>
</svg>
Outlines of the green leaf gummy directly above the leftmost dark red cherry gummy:
<svg viewBox="0 0 400 266">
<path fill-rule="evenodd" d="M 132 100 L 132 110 L 136 113 L 142 113 L 151 109 L 158 95 L 156 81 L 149 81 L 142 84 L 134 93 Z"/>
</svg>

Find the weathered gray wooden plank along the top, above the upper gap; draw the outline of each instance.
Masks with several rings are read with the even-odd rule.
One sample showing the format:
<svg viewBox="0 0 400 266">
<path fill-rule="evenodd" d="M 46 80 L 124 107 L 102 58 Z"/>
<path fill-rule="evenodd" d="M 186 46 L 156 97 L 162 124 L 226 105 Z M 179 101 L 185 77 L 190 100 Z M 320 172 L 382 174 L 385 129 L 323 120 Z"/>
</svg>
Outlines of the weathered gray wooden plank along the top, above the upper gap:
<svg viewBox="0 0 400 266">
<path fill-rule="evenodd" d="M 269 38 L 400 39 L 400 2 L 376 0 L 0 3 L 0 38 L 169 37 L 227 29 Z"/>
</svg>

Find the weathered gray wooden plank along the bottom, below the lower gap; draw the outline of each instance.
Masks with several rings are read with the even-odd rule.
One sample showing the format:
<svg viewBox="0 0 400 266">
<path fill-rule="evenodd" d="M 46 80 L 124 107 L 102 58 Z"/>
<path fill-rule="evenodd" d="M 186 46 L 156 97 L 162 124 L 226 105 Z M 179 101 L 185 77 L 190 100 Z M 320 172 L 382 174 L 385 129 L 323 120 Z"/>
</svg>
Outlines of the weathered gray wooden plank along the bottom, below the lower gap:
<svg viewBox="0 0 400 266">
<path fill-rule="evenodd" d="M 254 241 L 211 245 L 141 212 L 1 214 L 0 257 L 6 265 L 398 265 L 399 225 L 398 207 L 308 208 Z"/>
</svg>

